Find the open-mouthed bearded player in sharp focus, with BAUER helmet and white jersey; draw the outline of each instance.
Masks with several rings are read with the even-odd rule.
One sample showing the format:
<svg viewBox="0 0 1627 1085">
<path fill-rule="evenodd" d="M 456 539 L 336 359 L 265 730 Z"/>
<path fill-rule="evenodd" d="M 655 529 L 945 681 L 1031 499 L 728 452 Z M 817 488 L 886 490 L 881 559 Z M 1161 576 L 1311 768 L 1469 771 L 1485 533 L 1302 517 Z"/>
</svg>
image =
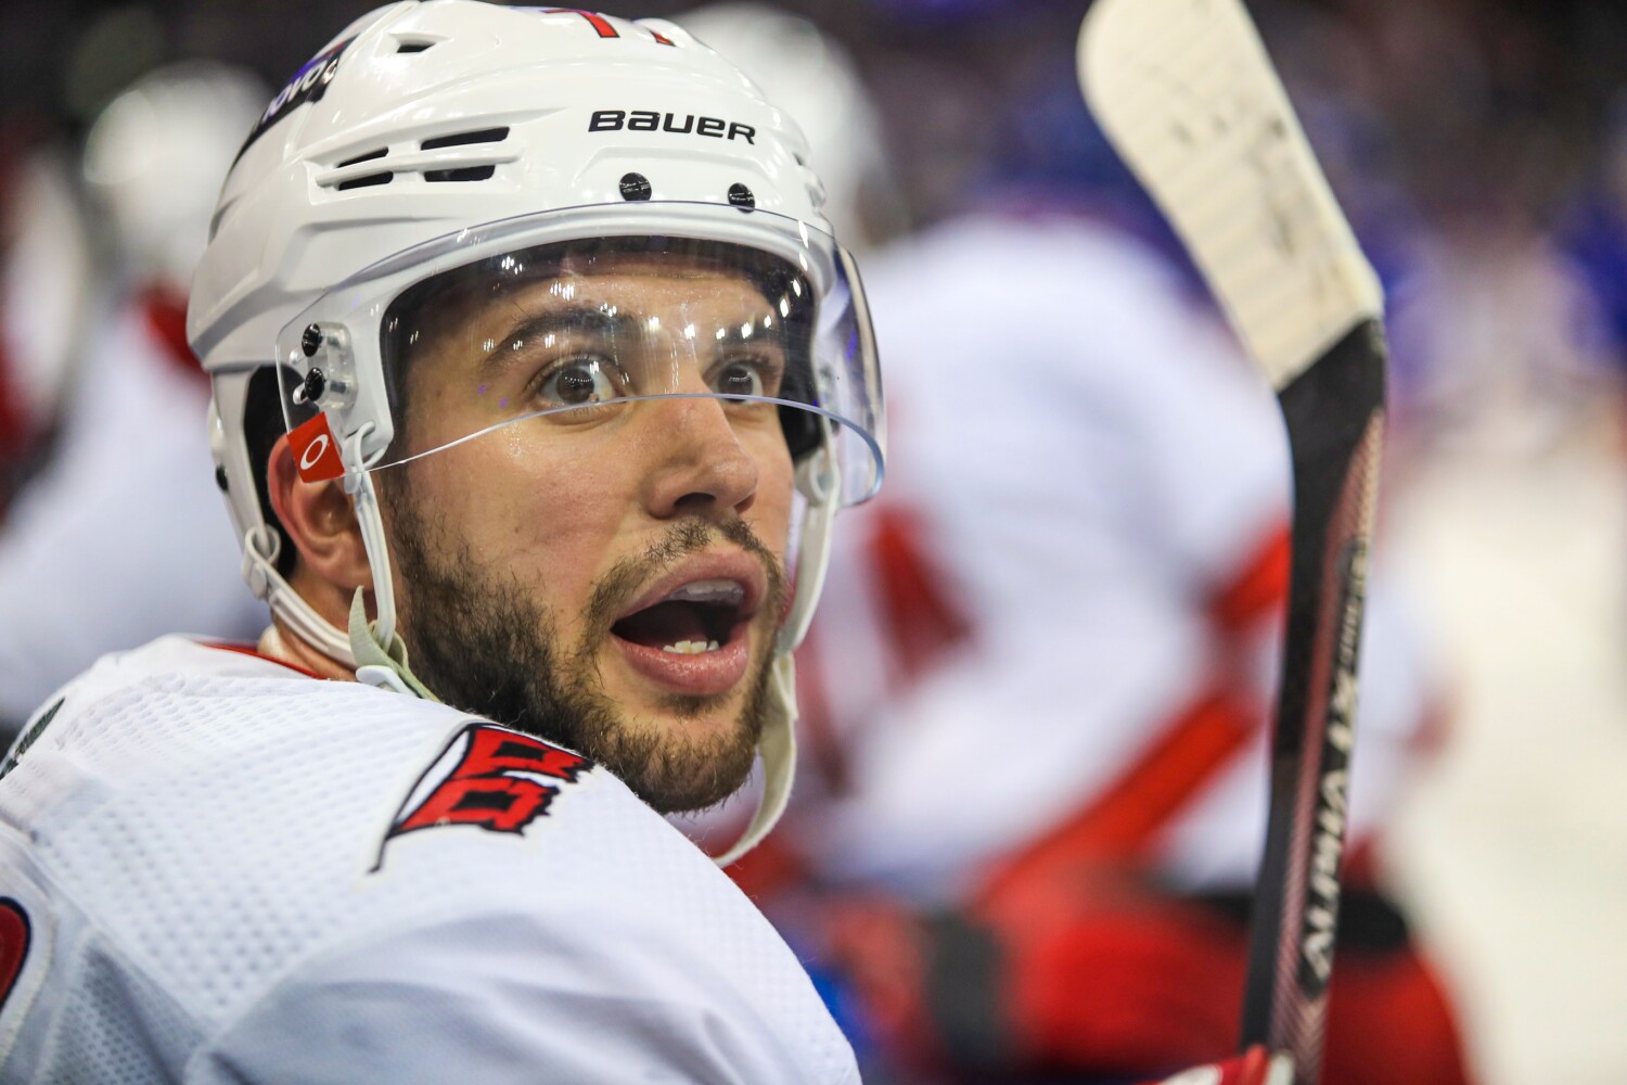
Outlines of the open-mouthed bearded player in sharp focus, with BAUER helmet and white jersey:
<svg viewBox="0 0 1627 1085">
<path fill-rule="evenodd" d="M 259 647 L 169 636 L 0 766 L 0 1077 L 854 1082 L 659 812 L 792 773 L 882 477 L 807 146 L 662 21 L 395 3 L 254 125 L 187 333 Z M 408 662 L 410 647 L 410 662 Z"/>
</svg>

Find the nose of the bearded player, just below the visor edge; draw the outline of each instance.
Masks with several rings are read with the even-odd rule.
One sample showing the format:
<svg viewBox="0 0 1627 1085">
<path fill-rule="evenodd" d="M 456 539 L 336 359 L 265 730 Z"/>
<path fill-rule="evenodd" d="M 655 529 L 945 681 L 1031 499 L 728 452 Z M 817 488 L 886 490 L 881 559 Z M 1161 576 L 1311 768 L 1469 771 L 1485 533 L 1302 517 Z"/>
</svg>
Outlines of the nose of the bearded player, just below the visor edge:
<svg viewBox="0 0 1627 1085">
<path fill-rule="evenodd" d="M 656 519 L 744 514 L 757 499 L 757 460 L 740 444 L 722 400 L 649 400 L 644 441 L 656 470 L 644 481 L 644 508 Z"/>
</svg>

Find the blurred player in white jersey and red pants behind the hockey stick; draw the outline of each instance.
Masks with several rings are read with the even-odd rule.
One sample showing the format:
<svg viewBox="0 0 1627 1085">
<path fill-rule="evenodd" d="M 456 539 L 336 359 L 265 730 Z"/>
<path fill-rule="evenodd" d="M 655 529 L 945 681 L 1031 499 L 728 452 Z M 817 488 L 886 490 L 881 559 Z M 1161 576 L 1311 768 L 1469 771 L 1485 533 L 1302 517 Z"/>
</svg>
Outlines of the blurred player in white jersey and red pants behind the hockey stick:
<svg viewBox="0 0 1627 1085">
<path fill-rule="evenodd" d="M 1269 390 L 1110 224 L 966 216 L 866 281 L 890 488 L 833 555 L 804 659 L 825 800 L 781 861 L 861 898 L 833 942 L 906 1059 L 1123 1080 L 1212 1057 L 1240 1015 L 1287 582 Z M 1376 577 L 1329 1083 L 1463 1074 L 1373 880 L 1433 708 L 1404 605 Z"/>
</svg>

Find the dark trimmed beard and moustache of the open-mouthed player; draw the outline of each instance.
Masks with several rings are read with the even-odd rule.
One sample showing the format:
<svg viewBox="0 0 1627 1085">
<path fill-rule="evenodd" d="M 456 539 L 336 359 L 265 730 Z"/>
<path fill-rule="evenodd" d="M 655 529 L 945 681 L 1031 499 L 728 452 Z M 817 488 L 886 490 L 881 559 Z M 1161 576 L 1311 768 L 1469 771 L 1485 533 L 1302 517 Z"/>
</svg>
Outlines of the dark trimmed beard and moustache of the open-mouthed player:
<svg viewBox="0 0 1627 1085">
<path fill-rule="evenodd" d="M 713 739 L 633 726 L 600 688 L 595 665 L 617 610 L 638 587 L 719 540 L 763 563 L 768 597 L 758 613 L 778 618 L 784 574 L 744 521 L 714 524 L 685 517 L 638 558 L 618 561 L 584 608 L 581 643 L 566 651 L 553 621 L 517 577 L 488 576 L 444 519 L 431 522 L 423 516 L 405 478 L 392 481 L 386 516 L 400 569 L 397 628 L 413 673 L 436 696 L 599 761 L 662 813 L 716 805 L 745 782 L 768 711 L 773 652 L 765 652 L 750 675 L 734 727 Z M 773 628 L 766 633 L 771 636 Z M 669 717 L 693 717 L 718 699 L 672 695 L 662 698 L 661 711 Z"/>
</svg>

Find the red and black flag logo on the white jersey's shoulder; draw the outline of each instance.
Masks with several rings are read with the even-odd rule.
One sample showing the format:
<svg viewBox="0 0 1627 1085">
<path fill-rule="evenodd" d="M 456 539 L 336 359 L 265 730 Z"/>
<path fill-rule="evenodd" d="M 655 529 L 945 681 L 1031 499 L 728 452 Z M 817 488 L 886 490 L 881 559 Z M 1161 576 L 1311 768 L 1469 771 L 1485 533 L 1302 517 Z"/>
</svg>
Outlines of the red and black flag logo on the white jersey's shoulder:
<svg viewBox="0 0 1627 1085">
<path fill-rule="evenodd" d="M 592 766 L 582 755 L 542 739 L 470 724 L 418 779 L 384 843 L 438 825 L 519 833 L 548 812 L 561 784 L 574 784 Z"/>
</svg>

